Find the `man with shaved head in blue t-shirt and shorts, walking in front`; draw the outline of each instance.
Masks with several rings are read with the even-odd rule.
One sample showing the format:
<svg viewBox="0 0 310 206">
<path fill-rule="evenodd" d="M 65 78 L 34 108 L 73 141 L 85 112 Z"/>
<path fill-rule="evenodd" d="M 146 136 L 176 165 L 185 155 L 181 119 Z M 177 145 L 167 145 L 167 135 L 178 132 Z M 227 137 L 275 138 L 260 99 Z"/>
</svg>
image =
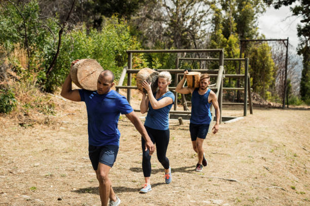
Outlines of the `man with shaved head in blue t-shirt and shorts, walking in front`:
<svg viewBox="0 0 310 206">
<path fill-rule="evenodd" d="M 71 67 L 78 61 L 73 61 Z M 105 70 L 98 77 L 97 91 L 72 90 L 72 80 L 69 74 L 61 90 L 61 96 L 69 100 L 85 101 L 88 117 L 89 158 L 97 175 L 101 204 L 104 206 L 107 205 L 108 199 L 110 199 L 109 205 L 121 203 L 108 178 L 119 151 L 121 134 L 118 122 L 121 113 L 126 115 L 144 138 L 145 150 L 148 149 L 150 155 L 155 150 L 143 124 L 125 96 L 111 89 L 114 85 L 113 81 L 113 73 Z"/>
</svg>

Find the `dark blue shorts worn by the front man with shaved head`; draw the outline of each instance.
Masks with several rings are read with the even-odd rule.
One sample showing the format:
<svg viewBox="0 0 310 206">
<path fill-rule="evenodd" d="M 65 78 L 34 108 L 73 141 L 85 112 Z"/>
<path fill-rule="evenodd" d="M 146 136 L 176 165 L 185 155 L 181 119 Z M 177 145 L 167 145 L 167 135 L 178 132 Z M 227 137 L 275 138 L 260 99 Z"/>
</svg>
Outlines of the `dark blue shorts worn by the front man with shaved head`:
<svg viewBox="0 0 310 206">
<path fill-rule="evenodd" d="M 98 170 L 99 162 L 112 167 L 119 152 L 118 145 L 88 145 L 88 155 L 94 170 Z"/>
</svg>

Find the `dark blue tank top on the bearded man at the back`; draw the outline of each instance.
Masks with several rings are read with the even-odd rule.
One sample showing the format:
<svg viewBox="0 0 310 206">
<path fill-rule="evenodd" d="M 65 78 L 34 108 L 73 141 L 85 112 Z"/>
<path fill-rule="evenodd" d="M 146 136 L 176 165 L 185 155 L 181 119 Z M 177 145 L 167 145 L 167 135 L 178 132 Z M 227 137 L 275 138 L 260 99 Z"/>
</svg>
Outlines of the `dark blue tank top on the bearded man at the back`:
<svg viewBox="0 0 310 206">
<path fill-rule="evenodd" d="M 190 123 L 193 124 L 210 124 L 211 122 L 211 112 L 208 97 L 211 89 L 204 95 L 198 93 L 199 88 L 196 88 L 191 94 L 191 115 Z"/>
</svg>

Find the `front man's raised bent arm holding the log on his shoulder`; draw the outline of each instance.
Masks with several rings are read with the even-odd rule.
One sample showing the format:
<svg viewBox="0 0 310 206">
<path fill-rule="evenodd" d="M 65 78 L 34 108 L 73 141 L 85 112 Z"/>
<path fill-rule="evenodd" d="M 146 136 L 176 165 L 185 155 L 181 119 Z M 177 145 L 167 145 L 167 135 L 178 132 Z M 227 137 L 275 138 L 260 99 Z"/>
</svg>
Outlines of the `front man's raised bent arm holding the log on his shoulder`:
<svg viewBox="0 0 310 206">
<path fill-rule="evenodd" d="M 73 61 L 71 63 L 71 68 L 78 61 L 79 60 Z M 63 96 L 64 98 L 72 100 L 72 101 L 81 101 L 79 89 L 72 90 L 72 79 L 71 79 L 70 73 L 68 74 L 67 78 L 65 79 L 65 81 L 62 85 L 60 95 Z"/>
</svg>

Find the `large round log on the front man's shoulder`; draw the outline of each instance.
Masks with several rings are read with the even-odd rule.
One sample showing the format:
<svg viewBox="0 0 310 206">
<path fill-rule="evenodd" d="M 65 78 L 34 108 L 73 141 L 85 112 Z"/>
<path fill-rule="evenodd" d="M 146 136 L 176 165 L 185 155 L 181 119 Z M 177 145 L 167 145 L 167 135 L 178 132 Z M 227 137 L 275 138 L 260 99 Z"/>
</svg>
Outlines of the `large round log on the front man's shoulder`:
<svg viewBox="0 0 310 206">
<path fill-rule="evenodd" d="M 102 71 L 103 68 L 96 60 L 82 59 L 72 66 L 70 76 L 76 86 L 95 91 L 99 74 Z"/>
</svg>

